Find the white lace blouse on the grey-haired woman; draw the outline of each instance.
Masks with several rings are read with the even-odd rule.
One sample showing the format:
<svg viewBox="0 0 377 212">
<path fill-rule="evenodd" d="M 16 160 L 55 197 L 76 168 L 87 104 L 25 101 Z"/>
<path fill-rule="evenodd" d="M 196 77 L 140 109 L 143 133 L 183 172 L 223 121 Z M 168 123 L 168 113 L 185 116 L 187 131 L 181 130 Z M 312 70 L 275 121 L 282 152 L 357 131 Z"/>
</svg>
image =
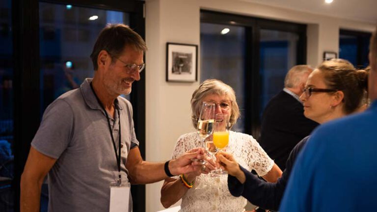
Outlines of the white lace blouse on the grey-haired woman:
<svg viewBox="0 0 377 212">
<path fill-rule="evenodd" d="M 200 137 L 196 132 L 181 135 L 175 144 L 172 159 L 192 148 L 200 147 L 200 142 Z M 226 152 L 231 153 L 247 170 L 254 169 L 259 176 L 266 175 L 274 164 L 259 143 L 248 134 L 230 131 Z M 245 211 L 247 200 L 243 197 L 232 196 L 228 190 L 227 180 L 228 175 L 210 177 L 202 174 L 196 177 L 193 187 L 188 189 L 182 197 L 180 212 Z"/>
</svg>

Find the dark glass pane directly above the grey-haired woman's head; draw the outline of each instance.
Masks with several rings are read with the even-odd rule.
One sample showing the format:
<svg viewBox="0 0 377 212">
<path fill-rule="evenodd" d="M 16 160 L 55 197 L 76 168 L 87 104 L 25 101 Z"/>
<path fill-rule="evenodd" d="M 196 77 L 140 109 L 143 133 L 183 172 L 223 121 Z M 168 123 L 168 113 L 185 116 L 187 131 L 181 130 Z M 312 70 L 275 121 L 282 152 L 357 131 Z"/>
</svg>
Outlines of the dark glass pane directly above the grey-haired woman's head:
<svg viewBox="0 0 377 212">
<path fill-rule="evenodd" d="M 224 28 L 229 32 L 221 34 Z M 233 87 L 241 110 L 241 119 L 233 126 L 237 132 L 244 132 L 244 48 L 244 27 L 201 23 L 200 80 L 220 79 Z"/>
</svg>

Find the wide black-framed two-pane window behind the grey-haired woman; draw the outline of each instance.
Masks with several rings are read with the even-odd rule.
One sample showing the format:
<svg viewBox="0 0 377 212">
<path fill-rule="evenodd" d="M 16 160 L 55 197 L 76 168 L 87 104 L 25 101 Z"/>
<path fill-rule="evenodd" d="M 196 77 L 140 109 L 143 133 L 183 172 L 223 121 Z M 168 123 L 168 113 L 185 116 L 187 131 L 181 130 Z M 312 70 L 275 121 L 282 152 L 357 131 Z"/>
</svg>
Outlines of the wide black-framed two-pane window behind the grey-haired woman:
<svg viewBox="0 0 377 212">
<path fill-rule="evenodd" d="M 257 138 L 269 99 L 288 70 L 306 62 L 306 26 L 202 10 L 200 35 L 200 81 L 232 86 L 241 110 L 233 129 Z"/>
</svg>

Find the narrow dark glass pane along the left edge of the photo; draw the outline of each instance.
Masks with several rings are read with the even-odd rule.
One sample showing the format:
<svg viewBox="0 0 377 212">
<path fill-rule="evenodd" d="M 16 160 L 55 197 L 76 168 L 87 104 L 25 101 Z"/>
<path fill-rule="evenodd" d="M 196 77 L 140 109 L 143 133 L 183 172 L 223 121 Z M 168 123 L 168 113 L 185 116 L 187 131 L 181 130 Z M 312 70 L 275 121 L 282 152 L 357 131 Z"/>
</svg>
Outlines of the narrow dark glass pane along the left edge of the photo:
<svg viewBox="0 0 377 212">
<path fill-rule="evenodd" d="M 0 211 L 13 212 L 13 40 L 11 0 L 0 0 Z"/>
</svg>

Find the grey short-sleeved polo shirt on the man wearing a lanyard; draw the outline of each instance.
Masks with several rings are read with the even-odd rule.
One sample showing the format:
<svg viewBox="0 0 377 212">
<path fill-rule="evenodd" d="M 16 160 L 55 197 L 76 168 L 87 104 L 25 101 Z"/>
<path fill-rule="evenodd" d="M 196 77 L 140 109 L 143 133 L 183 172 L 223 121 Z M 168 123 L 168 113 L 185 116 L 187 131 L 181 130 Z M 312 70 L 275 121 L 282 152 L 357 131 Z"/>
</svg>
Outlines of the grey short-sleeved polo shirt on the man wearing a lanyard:
<svg viewBox="0 0 377 212">
<path fill-rule="evenodd" d="M 118 168 L 108 121 L 90 88 L 91 80 L 85 79 L 80 88 L 47 107 L 31 142 L 38 152 L 57 159 L 48 174 L 49 212 L 108 212 L 109 184 L 117 179 Z M 118 102 L 121 174 L 126 182 L 127 155 L 138 141 L 131 103 L 122 97 Z M 118 120 L 115 112 L 110 123 L 117 148 Z"/>
</svg>

